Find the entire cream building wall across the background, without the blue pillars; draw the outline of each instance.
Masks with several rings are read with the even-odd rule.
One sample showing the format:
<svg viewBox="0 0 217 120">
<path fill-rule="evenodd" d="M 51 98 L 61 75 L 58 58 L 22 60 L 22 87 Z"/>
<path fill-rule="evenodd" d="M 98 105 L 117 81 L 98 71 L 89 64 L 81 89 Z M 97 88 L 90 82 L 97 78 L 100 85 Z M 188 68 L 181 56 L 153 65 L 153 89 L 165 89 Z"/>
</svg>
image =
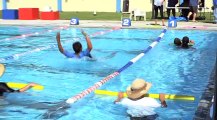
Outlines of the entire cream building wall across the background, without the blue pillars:
<svg viewBox="0 0 217 120">
<path fill-rule="evenodd" d="M 37 7 L 41 11 L 46 6 L 52 7 L 54 11 L 58 10 L 58 0 L 8 0 L 8 9 L 32 8 Z M 96 11 L 96 12 L 116 12 L 117 0 L 62 0 L 62 11 Z M 166 0 L 167 1 L 167 0 Z M 206 11 L 211 11 L 212 0 L 205 0 Z M 166 8 L 164 4 L 164 8 Z M 129 0 L 129 12 L 134 9 L 140 9 L 146 12 L 152 11 L 152 0 Z M 2 10 L 2 0 L 0 0 L 0 10 Z M 123 0 L 121 0 L 121 11 L 123 10 Z"/>
</svg>

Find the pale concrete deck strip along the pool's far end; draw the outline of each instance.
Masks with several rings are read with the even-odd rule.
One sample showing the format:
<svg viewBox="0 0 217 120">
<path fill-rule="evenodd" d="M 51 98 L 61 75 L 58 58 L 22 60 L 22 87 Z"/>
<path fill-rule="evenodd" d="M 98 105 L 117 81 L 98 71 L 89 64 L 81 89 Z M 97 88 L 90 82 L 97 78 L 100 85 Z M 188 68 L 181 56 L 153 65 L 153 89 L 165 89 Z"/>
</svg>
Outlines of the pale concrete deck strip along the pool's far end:
<svg viewBox="0 0 217 120">
<path fill-rule="evenodd" d="M 151 28 L 160 29 L 160 25 L 151 25 L 154 21 L 131 21 L 131 26 L 122 27 L 122 21 L 103 20 L 80 20 L 79 25 L 73 27 L 122 27 L 122 28 Z M 158 21 L 161 24 L 161 21 Z M 70 20 L 2 20 L 0 25 L 27 25 L 27 26 L 69 26 Z M 167 25 L 167 21 L 165 21 Z M 217 30 L 217 24 L 202 22 L 178 22 L 176 28 L 169 29 L 195 29 L 195 30 Z"/>
</svg>

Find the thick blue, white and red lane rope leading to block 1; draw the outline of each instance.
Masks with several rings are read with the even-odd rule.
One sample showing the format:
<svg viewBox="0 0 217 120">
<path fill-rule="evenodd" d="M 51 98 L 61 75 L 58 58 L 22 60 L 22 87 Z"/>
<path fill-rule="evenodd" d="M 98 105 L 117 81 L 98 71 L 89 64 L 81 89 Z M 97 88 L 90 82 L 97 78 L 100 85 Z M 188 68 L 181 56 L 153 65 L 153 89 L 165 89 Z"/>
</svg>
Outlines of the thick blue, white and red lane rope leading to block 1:
<svg viewBox="0 0 217 120">
<path fill-rule="evenodd" d="M 114 73 L 108 75 L 107 77 L 103 78 L 102 80 L 100 80 L 99 82 L 96 82 L 93 86 L 83 90 L 81 93 L 67 99 L 65 102 L 68 104 L 73 104 L 76 101 L 78 101 L 79 99 L 85 97 L 86 95 L 90 94 L 91 92 L 93 92 L 94 90 L 96 90 L 97 88 L 101 87 L 103 84 L 105 84 L 107 81 L 109 81 L 110 79 L 114 78 L 115 76 L 119 75 L 122 71 L 124 71 L 125 69 L 127 69 L 129 66 L 131 66 L 133 63 L 135 63 L 136 61 L 138 61 L 140 58 L 142 58 L 148 51 L 150 51 L 153 47 L 155 47 L 157 45 L 157 43 L 160 42 L 161 38 L 164 36 L 164 34 L 166 33 L 167 28 L 164 27 L 164 30 L 162 31 L 162 33 L 158 36 L 158 38 L 151 44 L 149 45 L 142 53 L 140 53 L 139 55 L 137 55 L 135 58 L 133 58 L 132 60 L 130 60 L 126 65 L 124 65 L 122 68 L 120 68 L 119 70 L 115 71 Z"/>
</svg>

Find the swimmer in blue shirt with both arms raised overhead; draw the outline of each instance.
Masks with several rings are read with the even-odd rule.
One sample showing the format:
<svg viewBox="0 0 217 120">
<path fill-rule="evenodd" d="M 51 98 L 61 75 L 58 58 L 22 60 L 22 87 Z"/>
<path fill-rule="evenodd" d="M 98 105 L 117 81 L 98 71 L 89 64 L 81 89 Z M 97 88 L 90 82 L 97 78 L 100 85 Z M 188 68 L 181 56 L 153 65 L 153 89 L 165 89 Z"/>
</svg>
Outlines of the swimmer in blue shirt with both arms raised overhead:
<svg viewBox="0 0 217 120">
<path fill-rule="evenodd" d="M 63 49 L 62 44 L 60 42 L 60 33 L 58 32 L 56 35 L 56 40 L 58 44 L 59 51 L 65 55 L 67 58 L 82 58 L 84 56 L 91 57 L 90 51 L 92 50 L 92 43 L 90 41 L 89 36 L 87 33 L 85 33 L 83 30 L 81 33 L 85 36 L 86 42 L 87 42 L 87 49 L 85 51 L 82 51 L 82 44 L 80 42 L 74 42 L 72 44 L 72 48 L 74 50 L 74 53 L 69 52 L 65 49 Z"/>
</svg>

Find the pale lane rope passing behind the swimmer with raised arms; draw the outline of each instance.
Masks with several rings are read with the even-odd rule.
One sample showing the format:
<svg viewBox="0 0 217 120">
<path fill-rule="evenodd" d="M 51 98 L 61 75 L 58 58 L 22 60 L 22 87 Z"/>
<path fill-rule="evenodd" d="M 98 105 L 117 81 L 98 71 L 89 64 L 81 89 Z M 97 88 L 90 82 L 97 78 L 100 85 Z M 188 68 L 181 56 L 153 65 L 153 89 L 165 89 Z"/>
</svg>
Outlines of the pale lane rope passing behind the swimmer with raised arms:
<svg viewBox="0 0 217 120">
<path fill-rule="evenodd" d="M 107 34 L 109 32 L 113 32 L 115 30 L 119 30 L 119 29 L 121 29 L 121 28 L 120 27 L 113 27 L 110 30 L 104 30 L 104 31 L 99 31 L 99 32 L 93 33 L 93 34 L 90 35 L 90 37 L 104 35 L 104 34 Z M 78 41 L 78 40 L 81 40 L 82 38 L 83 37 L 77 37 L 77 38 L 73 38 L 72 40 L 66 40 L 66 41 L 64 41 L 63 44 L 68 43 L 68 42 L 72 42 L 72 41 Z M 18 59 L 21 56 L 25 56 L 25 55 L 28 55 L 28 54 L 32 54 L 34 52 L 40 52 L 42 50 L 47 50 L 47 49 L 55 48 L 55 47 L 57 47 L 56 44 L 48 45 L 48 46 L 40 47 L 40 48 L 35 48 L 33 50 L 30 50 L 30 51 L 26 51 L 26 52 L 22 52 L 22 53 L 17 53 L 17 54 L 14 54 L 14 55 L 10 55 L 10 56 L 6 56 L 6 57 L 3 57 L 3 58 L 0 58 L 0 62 L 6 62 L 8 60 L 15 60 L 15 59 Z"/>
</svg>

